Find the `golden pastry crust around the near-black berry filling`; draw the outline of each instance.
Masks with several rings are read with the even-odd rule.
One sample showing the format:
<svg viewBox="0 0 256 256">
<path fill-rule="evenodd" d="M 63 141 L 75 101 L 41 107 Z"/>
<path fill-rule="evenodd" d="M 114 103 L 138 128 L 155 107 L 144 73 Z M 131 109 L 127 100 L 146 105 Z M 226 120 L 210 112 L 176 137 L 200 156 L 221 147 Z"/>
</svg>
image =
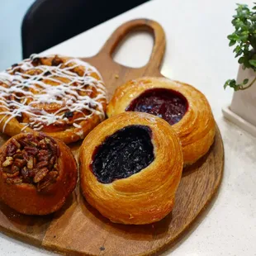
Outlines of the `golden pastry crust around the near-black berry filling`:
<svg viewBox="0 0 256 256">
<path fill-rule="evenodd" d="M 107 136 L 126 126 L 149 126 L 154 161 L 139 173 L 104 184 L 92 173 L 92 155 Z M 147 224 L 164 218 L 173 209 L 174 195 L 183 169 L 180 141 L 171 126 L 157 116 L 125 112 L 103 121 L 80 148 L 80 180 L 86 200 L 113 222 Z"/>
</svg>

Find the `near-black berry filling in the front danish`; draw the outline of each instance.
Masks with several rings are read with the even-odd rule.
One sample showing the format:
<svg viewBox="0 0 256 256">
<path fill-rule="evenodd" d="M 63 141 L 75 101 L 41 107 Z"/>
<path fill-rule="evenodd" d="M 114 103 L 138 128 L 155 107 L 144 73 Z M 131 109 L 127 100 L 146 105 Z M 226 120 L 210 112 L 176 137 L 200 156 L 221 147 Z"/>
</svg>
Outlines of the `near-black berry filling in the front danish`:
<svg viewBox="0 0 256 256">
<path fill-rule="evenodd" d="M 95 149 L 92 173 L 100 183 L 112 183 L 139 173 L 154 161 L 152 131 L 148 126 L 126 126 Z"/>
</svg>

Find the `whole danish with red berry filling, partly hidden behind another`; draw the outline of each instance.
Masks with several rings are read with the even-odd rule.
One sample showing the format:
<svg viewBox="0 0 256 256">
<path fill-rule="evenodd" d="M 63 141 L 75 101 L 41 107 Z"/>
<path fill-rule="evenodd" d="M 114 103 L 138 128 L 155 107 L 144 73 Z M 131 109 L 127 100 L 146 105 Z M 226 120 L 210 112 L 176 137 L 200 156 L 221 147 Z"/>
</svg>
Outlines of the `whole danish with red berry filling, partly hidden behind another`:
<svg viewBox="0 0 256 256">
<path fill-rule="evenodd" d="M 140 111 L 173 126 L 183 145 L 184 165 L 195 163 L 210 149 L 216 123 L 206 97 L 187 83 L 167 78 L 138 78 L 116 89 L 107 116 Z"/>
</svg>

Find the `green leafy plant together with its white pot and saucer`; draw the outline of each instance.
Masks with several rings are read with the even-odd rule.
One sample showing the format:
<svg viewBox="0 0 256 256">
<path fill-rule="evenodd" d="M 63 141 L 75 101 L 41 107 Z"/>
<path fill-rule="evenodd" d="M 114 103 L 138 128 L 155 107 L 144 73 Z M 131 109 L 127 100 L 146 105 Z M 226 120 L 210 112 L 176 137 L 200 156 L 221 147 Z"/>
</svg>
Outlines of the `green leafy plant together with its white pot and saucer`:
<svg viewBox="0 0 256 256">
<path fill-rule="evenodd" d="M 238 58 L 239 71 L 236 80 L 225 82 L 224 88 L 233 88 L 235 92 L 230 107 L 224 108 L 223 113 L 256 135 L 256 3 L 252 9 L 238 4 L 235 10 L 232 20 L 235 31 L 228 39 Z"/>
</svg>

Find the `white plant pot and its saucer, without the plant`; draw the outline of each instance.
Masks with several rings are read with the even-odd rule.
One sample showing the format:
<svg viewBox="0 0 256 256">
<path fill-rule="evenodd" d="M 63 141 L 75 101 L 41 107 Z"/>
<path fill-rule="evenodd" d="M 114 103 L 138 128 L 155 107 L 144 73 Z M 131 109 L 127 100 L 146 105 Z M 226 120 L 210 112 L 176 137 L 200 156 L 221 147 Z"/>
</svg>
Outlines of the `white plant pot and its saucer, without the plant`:
<svg viewBox="0 0 256 256">
<path fill-rule="evenodd" d="M 249 82 L 244 85 L 246 87 L 255 77 L 254 69 L 242 69 L 240 65 L 236 83 L 243 83 L 248 78 Z M 231 105 L 222 111 L 227 119 L 256 136 L 256 81 L 250 88 L 234 92 Z"/>
</svg>

